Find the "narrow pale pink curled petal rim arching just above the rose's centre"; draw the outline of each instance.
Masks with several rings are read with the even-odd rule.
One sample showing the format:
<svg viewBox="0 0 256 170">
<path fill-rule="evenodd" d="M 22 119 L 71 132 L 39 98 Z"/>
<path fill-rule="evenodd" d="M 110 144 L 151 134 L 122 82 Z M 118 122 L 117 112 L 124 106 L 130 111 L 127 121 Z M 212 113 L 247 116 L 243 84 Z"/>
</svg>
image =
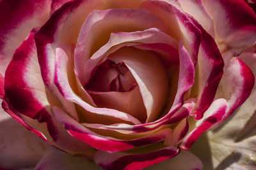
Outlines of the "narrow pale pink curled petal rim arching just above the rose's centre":
<svg viewBox="0 0 256 170">
<path fill-rule="evenodd" d="M 109 42 L 106 43 L 106 45 L 103 45 L 99 50 L 97 50 L 97 52 L 93 54 L 90 59 L 88 59 L 88 61 L 86 61 L 84 65 L 83 79 L 81 82 L 84 81 L 86 84 L 90 79 L 93 68 L 95 68 L 100 61 L 103 62 L 104 59 L 109 56 L 109 54 L 122 47 L 132 46 L 138 43 L 166 43 L 175 48 L 178 46 L 177 40 L 164 34 L 156 28 L 150 28 L 146 29 L 145 31 L 136 31 L 132 33 L 111 33 Z"/>
</svg>

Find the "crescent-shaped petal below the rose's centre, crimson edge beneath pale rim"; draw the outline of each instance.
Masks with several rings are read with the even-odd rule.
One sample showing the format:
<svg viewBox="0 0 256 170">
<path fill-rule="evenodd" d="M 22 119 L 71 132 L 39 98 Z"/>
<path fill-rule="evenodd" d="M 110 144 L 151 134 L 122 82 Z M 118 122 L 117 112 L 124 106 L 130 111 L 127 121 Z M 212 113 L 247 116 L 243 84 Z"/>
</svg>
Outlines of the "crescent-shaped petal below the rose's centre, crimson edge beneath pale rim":
<svg viewBox="0 0 256 170">
<path fill-rule="evenodd" d="M 138 146 L 145 146 L 147 144 L 154 144 L 163 141 L 172 130 L 170 128 L 164 128 L 158 132 L 144 136 L 138 139 L 122 140 L 115 139 L 114 137 L 102 136 L 92 132 L 86 127 L 83 127 L 80 123 L 67 116 L 67 114 L 59 107 L 52 107 L 54 115 L 58 121 L 63 123 L 68 133 L 74 138 L 90 144 L 97 150 L 104 150 L 110 153 L 116 151 L 129 150 Z"/>
</svg>

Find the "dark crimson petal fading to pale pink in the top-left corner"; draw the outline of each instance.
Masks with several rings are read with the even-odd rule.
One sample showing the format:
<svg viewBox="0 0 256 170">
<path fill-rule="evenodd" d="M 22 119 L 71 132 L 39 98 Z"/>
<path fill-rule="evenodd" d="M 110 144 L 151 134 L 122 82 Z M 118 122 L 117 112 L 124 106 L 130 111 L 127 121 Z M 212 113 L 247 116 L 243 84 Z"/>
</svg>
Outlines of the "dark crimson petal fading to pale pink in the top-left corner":
<svg viewBox="0 0 256 170">
<path fill-rule="evenodd" d="M 0 2 L 0 73 L 31 29 L 40 27 L 50 15 L 51 0 L 3 0 Z M 29 9 L 29 10 L 24 10 Z"/>
</svg>

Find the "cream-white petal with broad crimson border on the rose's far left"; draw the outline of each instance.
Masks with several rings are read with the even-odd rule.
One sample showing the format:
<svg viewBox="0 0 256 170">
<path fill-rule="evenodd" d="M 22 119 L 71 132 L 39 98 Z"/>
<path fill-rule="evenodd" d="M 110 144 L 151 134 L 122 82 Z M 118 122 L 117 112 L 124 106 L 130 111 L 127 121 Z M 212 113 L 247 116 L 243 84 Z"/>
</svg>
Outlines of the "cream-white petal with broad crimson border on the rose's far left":
<svg viewBox="0 0 256 170">
<path fill-rule="evenodd" d="M 4 90 L 10 103 L 31 118 L 49 105 L 37 61 L 34 33 L 16 50 L 4 77 Z M 19 72 L 17 72 L 19 70 Z"/>
</svg>

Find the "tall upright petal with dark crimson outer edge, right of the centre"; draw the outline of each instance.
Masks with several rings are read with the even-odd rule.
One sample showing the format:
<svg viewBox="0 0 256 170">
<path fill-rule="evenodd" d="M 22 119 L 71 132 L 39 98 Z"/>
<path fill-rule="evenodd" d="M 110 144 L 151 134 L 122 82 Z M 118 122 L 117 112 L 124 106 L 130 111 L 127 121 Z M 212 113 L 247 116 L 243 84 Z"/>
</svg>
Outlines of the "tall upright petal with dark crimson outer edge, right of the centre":
<svg viewBox="0 0 256 170">
<path fill-rule="evenodd" d="M 198 102 L 192 111 L 195 119 L 199 120 L 215 97 L 218 84 L 223 75 L 224 62 L 212 36 L 195 20 L 190 19 L 202 32 L 202 41 L 198 53 L 198 70 L 196 70 L 196 82 L 193 87 L 198 88 L 195 93 L 198 95 Z M 191 95 L 194 95 L 193 89 L 191 93 Z"/>
</svg>

